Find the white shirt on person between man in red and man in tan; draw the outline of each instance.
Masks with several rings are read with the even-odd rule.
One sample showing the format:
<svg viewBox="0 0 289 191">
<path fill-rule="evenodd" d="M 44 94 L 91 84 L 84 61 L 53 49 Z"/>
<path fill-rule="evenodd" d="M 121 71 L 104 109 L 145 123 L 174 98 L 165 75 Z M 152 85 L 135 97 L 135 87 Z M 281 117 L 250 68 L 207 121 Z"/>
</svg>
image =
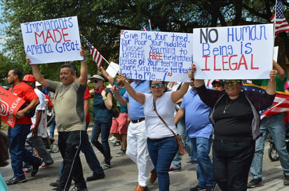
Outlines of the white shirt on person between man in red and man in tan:
<svg viewBox="0 0 289 191">
<path fill-rule="evenodd" d="M 34 92 L 37 94 L 39 97 L 39 105 L 36 106 L 36 111 L 35 115 L 31 118 L 32 120 L 32 126 L 31 128 L 34 127 L 35 121 L 36 121 L 36 112 L 41 110 L 42 115 L 41 115 L 41 120 L 39 123 L 38 127 L 38 136 L 40 137 L 46 137 L 47 136 L 47 106 L 46 106 L 46 97 L 45 95 L 38 89 L 34 89 Z"/>
</svg>

